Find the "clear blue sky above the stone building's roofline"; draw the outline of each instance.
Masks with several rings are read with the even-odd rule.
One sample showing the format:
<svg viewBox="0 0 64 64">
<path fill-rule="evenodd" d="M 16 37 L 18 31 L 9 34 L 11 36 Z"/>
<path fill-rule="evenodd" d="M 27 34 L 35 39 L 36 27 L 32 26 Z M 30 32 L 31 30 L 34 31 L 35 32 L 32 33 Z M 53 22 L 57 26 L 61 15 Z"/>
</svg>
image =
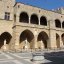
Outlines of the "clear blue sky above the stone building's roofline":
<svg viewBox="0 0 64 64">
<path fill-rule="evenodd" d="M 16 0 L 16 1 L 44 8 L 47 10 L 64 7 L 64 0 Z"/>
</svg>

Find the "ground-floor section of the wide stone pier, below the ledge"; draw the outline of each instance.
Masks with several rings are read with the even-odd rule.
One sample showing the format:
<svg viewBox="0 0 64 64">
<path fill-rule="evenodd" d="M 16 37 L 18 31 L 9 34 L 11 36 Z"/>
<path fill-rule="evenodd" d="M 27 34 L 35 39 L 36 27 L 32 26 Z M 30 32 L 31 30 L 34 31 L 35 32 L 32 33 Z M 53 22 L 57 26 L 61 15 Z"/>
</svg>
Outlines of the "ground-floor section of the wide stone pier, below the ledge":
<svg viewBox="0 0 64 64">
<path fill-rule="evenodd" d="M 48 48 L 52 48 L 52 49 L 57 48 L 57 46 L 56 46 L 56 33 L 54 30 L 50 30 Z"/>
</svg>

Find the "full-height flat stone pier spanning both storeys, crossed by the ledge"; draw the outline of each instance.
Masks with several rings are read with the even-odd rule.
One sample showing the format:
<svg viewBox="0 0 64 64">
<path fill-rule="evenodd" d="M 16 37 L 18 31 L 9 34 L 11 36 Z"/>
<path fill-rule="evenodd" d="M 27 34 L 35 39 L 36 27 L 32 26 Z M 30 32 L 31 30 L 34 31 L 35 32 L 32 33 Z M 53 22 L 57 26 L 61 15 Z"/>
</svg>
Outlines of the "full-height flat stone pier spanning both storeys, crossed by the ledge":
<svg viewBox="0 0 64 64">
<path fill-rule="evenodd" d="M 57 48 L 56 46 L 56 32 L 55 32 L 55 23 L 53 20 L 49 20 L 49 42 L 48 48 Z"/>
</svg>

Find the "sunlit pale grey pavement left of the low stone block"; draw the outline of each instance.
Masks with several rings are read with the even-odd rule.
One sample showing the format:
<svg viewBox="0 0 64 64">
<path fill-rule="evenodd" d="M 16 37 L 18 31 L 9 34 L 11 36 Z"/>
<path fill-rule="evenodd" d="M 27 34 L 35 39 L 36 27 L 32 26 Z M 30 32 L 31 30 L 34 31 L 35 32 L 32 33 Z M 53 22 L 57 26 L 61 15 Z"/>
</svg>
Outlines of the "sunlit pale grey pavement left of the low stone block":
<svg viewBox="0 0 64 64">
<path fill-rule="evenodd" d="M 40 62 L 30 61 L 31 59 L 32 59 L 31 52 L 23 52 L 23 53 L 0 52 L 0 64 L 40 64 Z M 48 60 L 44 61 L 48 62 Z"/>
</svg>

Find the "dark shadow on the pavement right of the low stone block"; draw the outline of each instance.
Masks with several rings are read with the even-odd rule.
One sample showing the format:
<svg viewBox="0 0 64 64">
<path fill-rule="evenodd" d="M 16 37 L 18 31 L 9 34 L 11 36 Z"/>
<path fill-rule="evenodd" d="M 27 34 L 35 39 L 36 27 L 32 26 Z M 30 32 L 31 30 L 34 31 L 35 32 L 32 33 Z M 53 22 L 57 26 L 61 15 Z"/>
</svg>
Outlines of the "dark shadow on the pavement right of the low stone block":
<svg viewBox="0 0 64 64">
<path fill-rule="evenodd" d="M 51 61 L 50 63 L 44 63 L 44 64 L 64 64 L 64 52 L 45 53 L 44 57 L 45 59 Z"/>
</svg>

